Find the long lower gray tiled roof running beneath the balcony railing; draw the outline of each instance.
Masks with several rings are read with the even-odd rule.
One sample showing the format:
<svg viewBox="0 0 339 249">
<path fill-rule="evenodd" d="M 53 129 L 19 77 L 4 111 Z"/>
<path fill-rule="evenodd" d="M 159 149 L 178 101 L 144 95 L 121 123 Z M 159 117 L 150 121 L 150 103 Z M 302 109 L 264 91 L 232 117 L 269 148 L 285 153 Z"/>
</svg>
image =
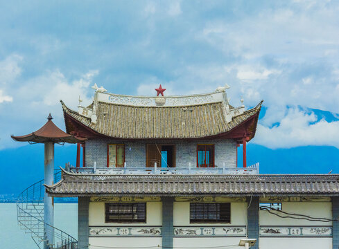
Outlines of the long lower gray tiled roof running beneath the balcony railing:
<svg viewBox="0 0 339 249">
<path fill-rule="evenodd" d="M 46 186 L 51 196 L 112 195 L 339 195 L 338 174 L 308 175 L 105 175 L 62 172 Z"/>
</svg>

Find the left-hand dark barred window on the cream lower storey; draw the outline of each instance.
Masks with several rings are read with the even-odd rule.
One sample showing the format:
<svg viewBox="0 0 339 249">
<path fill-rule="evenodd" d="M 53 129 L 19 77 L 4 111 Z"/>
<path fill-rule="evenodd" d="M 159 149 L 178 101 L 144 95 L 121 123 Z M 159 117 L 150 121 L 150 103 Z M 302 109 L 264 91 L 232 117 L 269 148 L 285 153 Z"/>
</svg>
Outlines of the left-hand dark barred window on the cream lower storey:
<svg viewBox="0 0 339 249">
<path fill-rule="evenodd" d="M 105 222 L 146 222 L 146 203 L 106 203 Z"/>
</svg>

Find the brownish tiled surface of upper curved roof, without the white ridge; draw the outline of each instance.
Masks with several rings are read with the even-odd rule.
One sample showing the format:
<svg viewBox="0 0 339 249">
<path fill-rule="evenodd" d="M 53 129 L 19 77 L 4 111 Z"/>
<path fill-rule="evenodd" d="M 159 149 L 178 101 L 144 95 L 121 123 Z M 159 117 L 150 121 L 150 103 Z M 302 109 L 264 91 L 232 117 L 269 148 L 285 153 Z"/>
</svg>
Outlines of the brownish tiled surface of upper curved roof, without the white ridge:
<svg viewBox="0 0 339 249">
<path fill-rule="evenodd" d="M 239 124 L 257 120 L 261 102 L 226 122 L 223 102 L 195 104 L 187 107 L 137 107 L 98 102 L 97 122 L 80 115 L 64 104 L 67 132 L 72 131 L 67 116 L 93 131 L 113 138 L 205 138 L 227 133 Z M 254 122 L 256 126 L 257 122 Z M 252 127 L 255 132 L 255 127 Z M 253 135 L 254 136 L 254 133 Z"/>
</svg>

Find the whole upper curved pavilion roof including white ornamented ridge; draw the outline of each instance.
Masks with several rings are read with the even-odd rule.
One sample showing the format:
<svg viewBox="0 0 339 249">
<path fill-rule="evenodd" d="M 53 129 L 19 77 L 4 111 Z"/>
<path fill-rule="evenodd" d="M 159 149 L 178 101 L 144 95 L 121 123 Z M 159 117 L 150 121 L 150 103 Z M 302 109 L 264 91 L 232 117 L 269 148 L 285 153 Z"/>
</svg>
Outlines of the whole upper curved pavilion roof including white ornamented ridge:
<svg viewBox="0 0 339 249">
<path fill-rule="evenodd" d="M 62 102 L 62 108 L 67 132 L 83 137 L 88 131 L 122 139 L 209 138 L 223 136 L 247 122 L 247 140 L 252 139 L 262 102 L 248 110 L 234 108 L 223 94 L 146 98 L 96 93 L 89 107 L 74 111 Z M 164 104 L 157 104 L 161 100 Z"/>
</svg>

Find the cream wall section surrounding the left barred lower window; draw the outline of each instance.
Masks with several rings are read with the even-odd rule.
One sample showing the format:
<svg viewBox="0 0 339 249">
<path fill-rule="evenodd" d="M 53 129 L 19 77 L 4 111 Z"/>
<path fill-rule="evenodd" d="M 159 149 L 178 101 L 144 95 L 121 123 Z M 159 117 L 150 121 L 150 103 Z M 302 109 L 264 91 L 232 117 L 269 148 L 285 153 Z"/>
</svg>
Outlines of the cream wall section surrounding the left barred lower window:
<svg viewBox="0 0 339 249">
<path fill-rule="evenodd" d="M 89 203 L 89 226 L 95 225 L 162 225 L 162 202 L 146 203 L 146 223 L 105 223 L 105 203 Z"/>
</svg>

